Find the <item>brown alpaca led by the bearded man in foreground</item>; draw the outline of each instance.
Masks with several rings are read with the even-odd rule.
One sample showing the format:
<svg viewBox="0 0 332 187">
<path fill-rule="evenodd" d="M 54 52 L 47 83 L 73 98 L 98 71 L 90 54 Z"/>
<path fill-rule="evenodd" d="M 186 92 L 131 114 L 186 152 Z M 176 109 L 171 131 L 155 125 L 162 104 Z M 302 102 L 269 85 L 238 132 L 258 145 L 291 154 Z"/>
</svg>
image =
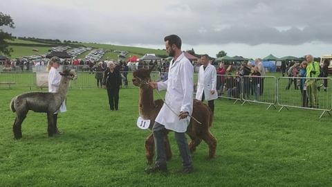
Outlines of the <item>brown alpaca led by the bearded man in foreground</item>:
<svg viewBox="0 0 332 187">
<path fill-rule="evenodd" d="M 147 84 L 151 81 L 150 78 L 151 71 L 147 69 L 138 69 L 133 72 L 133 84 L 140 87 L 140 102 L 139 110 L 140 116 L 144 119 L 149 119 L 151 121 L 149 129 L 151 130 L 156 116 L 158 115 L 161 107 L 163 107 L 163 100 L 154 100 L 153 89 Z M 194 152 L 196 147 L 205 141 L 209 146 L 209 158 L 213 158 L 216 153 L 216 139 L 210 132 L 210 127 L 212 126 L 213 114 L 208 105 L 205 105 L 200 100 L 194 99 L 194 107 L 192 116 L 197 119 L 197 121 L 202 124 L 197 123 L 193 119 L 187 127 L 187 134 L 190 136 L 189 148 L 190 152 Z M 165 132 L 168 134 L 169 131 Z M 169 145 L 168 137 L 165 136 L 165 148 L 167 160 L 172 158 L 172 151 Z M 145 140 L 145 152 L 147 161 L 149 164 L 152 163 L 154 157 L 154 135 L 151 133 Z"/>
</svg>

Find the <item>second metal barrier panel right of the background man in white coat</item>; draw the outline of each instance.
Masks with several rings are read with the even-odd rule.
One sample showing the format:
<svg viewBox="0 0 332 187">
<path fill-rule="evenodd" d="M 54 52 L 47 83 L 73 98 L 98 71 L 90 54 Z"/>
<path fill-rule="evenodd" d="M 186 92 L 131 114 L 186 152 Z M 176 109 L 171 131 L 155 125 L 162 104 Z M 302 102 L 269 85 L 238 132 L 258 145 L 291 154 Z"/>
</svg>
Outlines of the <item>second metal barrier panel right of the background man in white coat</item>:
<svg viewBox="0 0 332 187">
<path fill-rule="evenodd" d="M 245 103 L 266 104 L 277 109 L 277 79 L 273 76 L 241 76 L 241 99 Z"/>
</svg>

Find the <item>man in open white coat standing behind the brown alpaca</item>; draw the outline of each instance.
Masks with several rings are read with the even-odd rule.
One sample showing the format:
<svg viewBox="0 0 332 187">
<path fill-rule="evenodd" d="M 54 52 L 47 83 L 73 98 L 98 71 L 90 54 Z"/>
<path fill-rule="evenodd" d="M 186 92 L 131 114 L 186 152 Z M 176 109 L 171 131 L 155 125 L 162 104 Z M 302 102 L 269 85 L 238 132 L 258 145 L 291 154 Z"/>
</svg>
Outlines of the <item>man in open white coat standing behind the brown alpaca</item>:
<svg viewBox="0 0 332 187">
<path fill-rule="evenodd" d="M 216 94 L 216 68 L 209 63 L 209 56 L 201 56 L 202 65 L 199 67 L 199 81 L 197 82 L 196 99 L 208 100 L 208 105 L 214 113 Z"/>
</svg>

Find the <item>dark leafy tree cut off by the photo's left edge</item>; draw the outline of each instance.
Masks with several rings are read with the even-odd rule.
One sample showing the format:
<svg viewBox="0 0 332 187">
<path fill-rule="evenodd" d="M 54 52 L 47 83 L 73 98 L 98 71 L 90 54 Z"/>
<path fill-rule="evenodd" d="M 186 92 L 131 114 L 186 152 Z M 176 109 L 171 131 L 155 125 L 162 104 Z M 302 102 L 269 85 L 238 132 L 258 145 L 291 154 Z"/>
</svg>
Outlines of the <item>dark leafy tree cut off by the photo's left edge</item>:
<svg viewBox="0 0 332 187">
<path fill-rule="evenodd" d="M 2 12 L 0 12 L 0 27 L 1 26 L 15 28 L 12 18 L 9 15 L 4 15 Z M 12 48 L 8 47 L 8 42 L 6 42 L 6 39 L 12 40 L 12 34 L 6 33 L 0 29 L 0 53 L 10 56 Z"/>
</svg>

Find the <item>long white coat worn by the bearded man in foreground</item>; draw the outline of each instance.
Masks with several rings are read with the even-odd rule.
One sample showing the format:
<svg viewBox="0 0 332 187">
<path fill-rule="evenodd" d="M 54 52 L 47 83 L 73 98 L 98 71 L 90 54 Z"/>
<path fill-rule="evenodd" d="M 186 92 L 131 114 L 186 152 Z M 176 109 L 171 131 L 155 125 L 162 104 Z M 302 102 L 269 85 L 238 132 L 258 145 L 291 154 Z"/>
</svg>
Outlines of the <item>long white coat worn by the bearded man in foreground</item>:
<svg viewBox="0 0 332 187">
<path fill-rule="evenodd" d="M 167 130 L 186 132 L 190 118 L 179 119 L 180 112 L 192 114 L 194 93 L 194 67 L 182 53 L 174 62 L 169 64 L 168 80 L 158 82 L 158 90 L 167 89 L 165 103 L 160 109 L 156 122 L 165 125 Z"/>
</svg>

